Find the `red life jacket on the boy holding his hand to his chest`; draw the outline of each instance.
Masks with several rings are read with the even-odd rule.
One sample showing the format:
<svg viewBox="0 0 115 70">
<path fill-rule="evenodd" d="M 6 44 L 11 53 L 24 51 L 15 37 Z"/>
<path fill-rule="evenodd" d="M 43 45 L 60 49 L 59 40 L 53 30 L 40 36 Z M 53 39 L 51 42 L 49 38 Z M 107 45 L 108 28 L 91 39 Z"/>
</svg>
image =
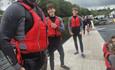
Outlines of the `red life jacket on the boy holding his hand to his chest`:
<svg viewBox="0 0 115 70">
<path fill-rule="evenodd" d="M 60 27 L 60 19 L 56 16 L 55 24 L 57 25 L 57 28 L 54 29 L 51 27 L 51 19 L 48 17 L 47 24 L 48 24 L 48 37 L 54 37 L 54 36 L 61 36 L 61 32 L 58 30 Z"/>
</svg>

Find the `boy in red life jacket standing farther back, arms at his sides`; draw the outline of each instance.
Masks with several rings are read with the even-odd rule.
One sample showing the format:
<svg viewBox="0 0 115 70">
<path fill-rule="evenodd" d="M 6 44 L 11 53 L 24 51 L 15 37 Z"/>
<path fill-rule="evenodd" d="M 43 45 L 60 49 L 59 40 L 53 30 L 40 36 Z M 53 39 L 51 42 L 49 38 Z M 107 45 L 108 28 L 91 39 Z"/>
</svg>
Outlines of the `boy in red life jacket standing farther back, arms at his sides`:
<svg viewBox="0 0 115 70">
<path fill-rule="evenodd" d="M 74 54 L 76 55 L 79 53 L 77 45 L 77 37 L 78 37 L 81 49 L 81 56 L 84 58 L 85 55 L 83 53 L 83 42 L 82 42 L 83 21 L 80 18 L 80 16 L 78 16 L 78 9 L 75 6 L 73 6 L 72 8 L 72 13 L 73 16 L 69 18 L 68 29 L 70 35 L 72 35 L 74 39 L 74 44 L 76 48 L 76 52 Z"/>
</svg>

